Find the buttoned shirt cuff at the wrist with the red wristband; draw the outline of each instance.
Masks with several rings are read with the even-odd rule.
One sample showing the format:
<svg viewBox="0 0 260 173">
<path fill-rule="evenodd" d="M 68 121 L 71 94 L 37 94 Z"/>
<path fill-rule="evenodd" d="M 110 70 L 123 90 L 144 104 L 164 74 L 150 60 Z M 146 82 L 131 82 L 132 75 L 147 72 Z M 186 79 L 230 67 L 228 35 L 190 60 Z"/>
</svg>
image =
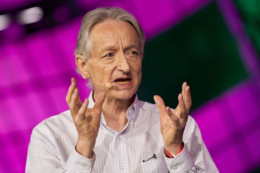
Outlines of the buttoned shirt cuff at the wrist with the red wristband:
<svg viewBox="0 0 260 173">
<path fill-rule="evenodd" d="M 183 150 L 174 158 L 168 158 L 164 152 L 164 160 L 170 172 L 188 172 L 193 166 L 190 151 L 184 144 Z"/>
</svg>

